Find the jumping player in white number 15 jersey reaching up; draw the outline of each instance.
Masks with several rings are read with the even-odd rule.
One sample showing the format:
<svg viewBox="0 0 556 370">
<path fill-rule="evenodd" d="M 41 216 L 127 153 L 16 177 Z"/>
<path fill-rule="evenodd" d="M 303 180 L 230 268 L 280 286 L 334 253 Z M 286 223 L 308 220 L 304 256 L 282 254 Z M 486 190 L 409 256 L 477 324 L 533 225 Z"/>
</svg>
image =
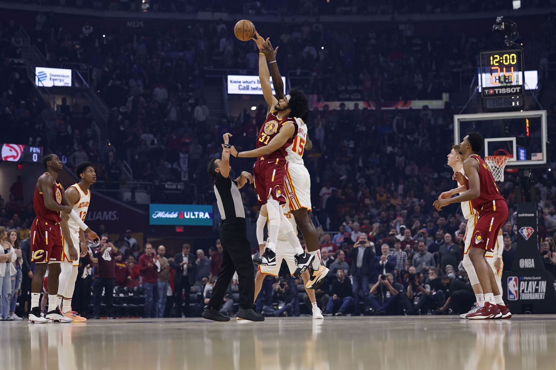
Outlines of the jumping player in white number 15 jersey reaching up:
<svg viewBox="0 0 556 370">
<path fill-rule="evenodd" d="M 284 98 L 284 82 L 276 63 L 276 52 L 278 48 L 273 49 L 270 40 L 265 43 L 266 59 L 269 60 L 270 70 L 272 74 L 272 84 L 277 99 Z M 309 119 L 309 111 L 304 116 L 296 117 L 295 120 L 299 126 L 294 142 L 286 148 L 287 172 L 286 172 L 286 191 L 289 198 L 290 213 L 295 217 L 294 230 L 297 226 L 301 230 L 303 240 L 307 252 L 315 256 L 315 260 L 309 268 L 309 281 L 305 281 L 305 288 L 315 289 L 322 284 L 322 281 L 328 275 L 328 268 L 321 263 L 319 235 L 316 232 L 315 225 L 311 220 L 311 177 L 309 171 L 305 167 L 303 154 L 306 150 L 311 150 L 312 142 L 307 136 L 306 121 Z M 266 217 L 259 215 L 257 226 L 266 223 Z"/>
</svg>

